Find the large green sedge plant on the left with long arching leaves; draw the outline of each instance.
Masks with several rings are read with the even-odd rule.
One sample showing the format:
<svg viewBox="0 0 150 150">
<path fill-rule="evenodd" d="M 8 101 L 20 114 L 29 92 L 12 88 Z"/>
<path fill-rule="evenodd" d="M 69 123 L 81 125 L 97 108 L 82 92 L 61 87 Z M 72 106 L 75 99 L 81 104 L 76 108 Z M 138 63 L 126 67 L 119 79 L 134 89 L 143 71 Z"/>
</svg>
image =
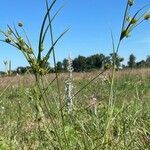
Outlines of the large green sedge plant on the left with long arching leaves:
<svg viewBox="0 0 150 150">
<path fill-rule="evenodd" d="M 53 56 L 54 66 L 56 68 L 55 46 L 58 43 L 58 41 L 63 37 L 63 35 L 68 31 L 68 29 L 65 30 L 63 33 L 61 33 L 58 36 L 58 38 L 54 39 L 54 35 L 52 31 L 53 30 L 52 22 L 54 21 L 54 19 L 56 18 L 56 16 L 58 15 L 61 9 L 56 11 L 56 13 L 52 14 L 53 7 L 55 6 L 57 0 L 53 0 L 50 6 L 48 4 L 48 0 L 45 0 L 45 2 L 46 2 L 47 12 L 44 16 L 42 26 L 40 29 L 38 48 L 37 48 L 38 53 L 36 53 L 35 50 L 33 50 L 32 43 L 30 42 L 29 37 L 27 36 L 27 33 L 25 32 L 24 24 L 22 22 L 19 22 L 17 27 L 15 25 L 14 27 L 11 27 L 8 25 L 7 26 L 8 30 L 6 32 L 0 30 L 0 33 L 4 37 L 1 41 L 21 51 L 23 55 L 25 56 L 26 60 L 28 61 L 30 67 L 32 68 L 32 71 L 36 79 L 36 87 L 34 88 L 34 90 L 32 90 L 33 92 L 32 95 L 34 95 L 34 97 L 32 98 L 34 98 L 36 101 L 35 107 L 37 108 L 38 110 L 37 112 L 42 118 L 44 125 L 46 124 L 46 120 L 45 120 L 45 117 L 46 117 L 45 110 L 46 110 L 46 115 L 48 114 L 48 116 L 51 119 L 51 123 L 53 125 L 53 130 L 55 131 L 55 136 L 57 138 L 58 145 L 59 147 L 61 147 L 61 142 L 59 139 L 59 134 L 58 134 L 57 129 L 59 129 L 61 125 L 63 125 L 63 114 L 62 114 L 62 104 L 61 104 L 61 99 L 60 99 L 60 90 L 59 90 L 57 70 L 55 70 L 58 95 L 59 95 L 59 107 L 57 107 L 58 109 L 57 117 L 58 118 L 60 117 L 61 118 L 60 120 L 62 122 L 62 124 L 59 124 L 59 125 L 57 124 L 59 127 L 56 125 L 56 122 L 54 121 L 51 115 L 51 109 L 52 109 L 51 103 L 52 102 L 51 100 L 49 100 L 48 94 L 45 91 L 45 89 L 47 89 L 48 87 L 45 87 L 43 76 L 49 72 L 47 63 L 51 55 Z M 21 33 L 23 33 L 23 35 Z M 51 43 L 48 50 L 46 50 L 44 46 L 45 38 L 47 34 L 50 35 L 49 37 L 50 37 L 50 43 Z M 43 52 L 45 55 L 43 54 Z M 50 84 L 48 86 L 50 86 Z M 45 126 L 45 128 L 47 128 L 47 126 Z M 46 132 L 50 134 L 49 130 L 50 129 L 46 130 Z"/>
</svg>

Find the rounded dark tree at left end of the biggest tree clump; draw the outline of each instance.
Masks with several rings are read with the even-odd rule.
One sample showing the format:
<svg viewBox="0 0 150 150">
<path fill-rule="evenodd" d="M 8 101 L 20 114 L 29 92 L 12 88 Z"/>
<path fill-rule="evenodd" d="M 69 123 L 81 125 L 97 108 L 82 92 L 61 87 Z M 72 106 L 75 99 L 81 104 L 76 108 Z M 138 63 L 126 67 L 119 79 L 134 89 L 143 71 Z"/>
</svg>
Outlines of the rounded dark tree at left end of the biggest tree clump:
<svg viewBox="0 0 150 150">
<path fill-rule="evenodd" d="M 78 56 L 78 58 L 75 58 L 73 60 L 73 69 L 76 72 L 82 72 L 86 71 L 87 65 L 86 65 L 86 57 L 84 56 Z"/>
</svg>

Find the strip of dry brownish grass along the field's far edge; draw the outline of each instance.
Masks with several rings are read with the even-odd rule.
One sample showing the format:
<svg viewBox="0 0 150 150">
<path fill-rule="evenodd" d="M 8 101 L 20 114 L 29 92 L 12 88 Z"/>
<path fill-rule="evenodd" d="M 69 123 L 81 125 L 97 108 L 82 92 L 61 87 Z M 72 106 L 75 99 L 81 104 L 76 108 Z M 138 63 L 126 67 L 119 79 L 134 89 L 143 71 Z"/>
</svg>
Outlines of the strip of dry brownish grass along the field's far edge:
<svg viewBox="0 0 150 150">
<path fill-rule="evenodd" d="M 84 79 L 92 79 L 95 75 L 97 75 L 99 71 L 94 72 L 82 72 L 82 73 L 73 73 L 73 78 L 77 80 L 84 80 Z M 67 78 L 67 73 L 60 73 L 59 80 L 64 81 Z M 111 70 L 106 71 L 103 75 L 99 77 L 99 79 L 103 79 L 111 76 Z M 127 69 L 127 70 L 119 70 L 116 71 L 117 78 L 124 78 L 125 76 L 141 76 L 143 79 L 150 76 L 150 68 L 143 68 L 143 69 Z M 47 82 L 51 82 L 55 79 L 55 74 L 49 74 L 44 77 Z M 34 84 L 34 76 L 33 75 L 19 75 L 19 76 L 12 76 L 12 77 L 0 77 L 0 88 L 4 88 L 8 85 L 18 87 L 20 85 L 30 86 Z"/>
</svg>

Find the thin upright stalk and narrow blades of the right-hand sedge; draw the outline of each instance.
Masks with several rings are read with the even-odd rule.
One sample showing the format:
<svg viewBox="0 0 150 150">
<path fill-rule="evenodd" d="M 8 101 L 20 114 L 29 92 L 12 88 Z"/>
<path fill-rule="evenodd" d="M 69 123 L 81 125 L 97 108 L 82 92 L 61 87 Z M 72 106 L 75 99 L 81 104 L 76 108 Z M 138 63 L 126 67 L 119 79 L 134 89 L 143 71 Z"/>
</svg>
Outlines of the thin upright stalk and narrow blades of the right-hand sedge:
<svg viewBox="0 0 150 150">
<path fill-rule="evenodd" d="M 147 6 L 147 5 L 146 5 Z M 142 7 L 141 9 L 139 9 L 133 16 L 133 18 L 130 20 L 129 24 L 126 27 L 126 22 L 127 22 L 127 16 L 129 15 L 129 9 L 130 9 L 130 5 L 129 5 L 129 0 L 127 1 L 127 6 L 125 9 L 125 13 L 124 13 L 124 19 L 123 19 L 123 24 L 122 24 L 122 29 L 121 29 L 121 34 L 120 34 L 120 38 L 119 38 L 119 42 L 117 44 L 117 48 L 115 50 L 115 44 L 114 44 L 114 38 L 113 38 L 113 34 L 111 32 L 111 39 L 112 39 L 112 47 L 113 47 L 113 70 L 112 70 L 112 80 L 111 80 L 111 89 L 110 89 L 110 96 L 109 96 L 109 105 L 111 106 L 108 110 L 108 119 L 107 119 L 107 126 L 106 126 L 106 134 L 105 134 L 105 138 L 103 142 L 108 142 L 109 140 L 109 127 L 111 125 L 111 119 L 112 119 L 112 115 L 113 115 L 113 110 L 114 110 L 114 80 L 115 80 L 115 64 L 116 64 L 116 59 L 117 59 L 117 54 L 120 48 L 120 44 L 123 40 L 124 37 L 126 37 L 125 33 L 130 33 L 134 27 L 136 27 L 137 25 L 141 24 L 143 21 L 139 22 L 139 24 L 136 22 L 136 24 L 133 24 L 133 20 L 136 19 L 136 16 L 146 7 Z M 106 145 L 107 146 L 107 145 Z M 108 148 L 108 147 L 106 147 Z"/>
</svg>

